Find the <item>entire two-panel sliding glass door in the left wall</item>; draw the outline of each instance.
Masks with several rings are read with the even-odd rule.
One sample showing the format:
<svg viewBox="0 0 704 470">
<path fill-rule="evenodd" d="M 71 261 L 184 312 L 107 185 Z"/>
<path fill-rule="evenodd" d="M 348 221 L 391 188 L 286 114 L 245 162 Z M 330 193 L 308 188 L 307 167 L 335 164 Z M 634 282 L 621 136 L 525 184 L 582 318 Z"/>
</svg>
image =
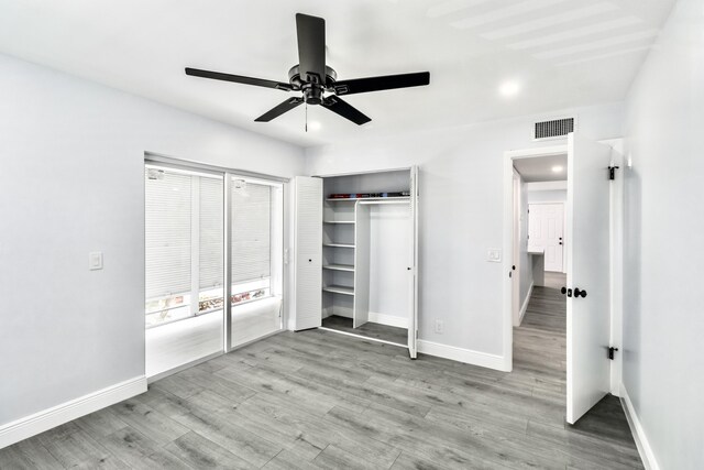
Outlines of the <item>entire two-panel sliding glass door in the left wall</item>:
<svg viewBox="0 0 704 470">
<path fill-rule="evenodd" d="M 144 182 L 147 376 L 279 331 L 283 184 L 151 163 Z"/>
</svg>

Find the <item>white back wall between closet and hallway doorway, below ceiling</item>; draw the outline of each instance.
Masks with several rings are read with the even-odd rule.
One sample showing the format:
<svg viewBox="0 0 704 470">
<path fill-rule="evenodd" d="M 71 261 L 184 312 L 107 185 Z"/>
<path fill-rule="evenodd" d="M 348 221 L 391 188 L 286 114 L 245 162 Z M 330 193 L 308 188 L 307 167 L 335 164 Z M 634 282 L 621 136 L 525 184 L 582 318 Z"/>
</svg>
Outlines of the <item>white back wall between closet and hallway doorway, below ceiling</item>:
<svg viewBox="0 0 704 470">
<path fill-rule="evenodd" d="M 593 139 L 622 134 L 620 103 L 559 112 L 576 112 L 580 131 Z M 420 165 L 420 339 L 503 353 L 502 276 L 508 273 L 486 261 L 486 250 L 503 244 L 504 151 L 554 144 L 530 140 L 532 118 L 306 151 L 308 174 Z M 444 320 L 444 334 L 435 332 L 436 319 Z"/>
</svg>

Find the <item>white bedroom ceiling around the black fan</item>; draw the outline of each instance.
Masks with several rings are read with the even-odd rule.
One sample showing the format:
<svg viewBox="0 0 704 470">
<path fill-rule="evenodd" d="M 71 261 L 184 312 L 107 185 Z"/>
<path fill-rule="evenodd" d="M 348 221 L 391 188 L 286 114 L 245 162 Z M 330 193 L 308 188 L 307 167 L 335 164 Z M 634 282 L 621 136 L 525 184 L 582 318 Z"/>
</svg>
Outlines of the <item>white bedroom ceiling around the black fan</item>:
<svg viewBox="0 0 704 470">
<path fill-rule="evenodd" d="M 0 52 L 300 145 L 622 100 L 674 0 L 0 0 Z M 284 91 L 184 67 L 287 81 L 294 15 L 327 22 L 341 79 L 430 70 L 430 86 L 345 97 L 253 120 Z M 516 81 L 513 98 L 499 86 Z"/>
</svg>

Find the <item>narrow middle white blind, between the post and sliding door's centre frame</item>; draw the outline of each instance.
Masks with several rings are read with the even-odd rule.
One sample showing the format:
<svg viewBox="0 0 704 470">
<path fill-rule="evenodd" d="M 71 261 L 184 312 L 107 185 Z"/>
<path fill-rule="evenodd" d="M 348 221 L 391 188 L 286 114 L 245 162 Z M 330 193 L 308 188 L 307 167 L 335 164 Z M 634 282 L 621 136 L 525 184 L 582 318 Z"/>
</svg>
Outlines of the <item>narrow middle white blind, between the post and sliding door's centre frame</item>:
<svg viewBox="0 0 704 470">
<path fill-rule="evenodd" d="M 200 178 L 199 287 L 222 286 L 222 178 Z"/>
</svg>

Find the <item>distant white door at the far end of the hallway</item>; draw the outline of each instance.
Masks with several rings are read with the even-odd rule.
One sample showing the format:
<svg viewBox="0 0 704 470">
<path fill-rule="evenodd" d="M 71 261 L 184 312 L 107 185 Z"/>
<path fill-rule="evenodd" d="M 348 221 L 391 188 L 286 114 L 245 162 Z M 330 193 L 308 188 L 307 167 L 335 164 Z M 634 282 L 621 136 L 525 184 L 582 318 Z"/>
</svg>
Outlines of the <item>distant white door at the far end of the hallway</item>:
<svg viewBox="0 0 704 470">
<path fill-rule="evenodd" d="M 528 245 L 546 251 L 546 271 L 562 272 L 564 247 L 564 206 L 530 204 L 528 206 Z"/>
</svg>

